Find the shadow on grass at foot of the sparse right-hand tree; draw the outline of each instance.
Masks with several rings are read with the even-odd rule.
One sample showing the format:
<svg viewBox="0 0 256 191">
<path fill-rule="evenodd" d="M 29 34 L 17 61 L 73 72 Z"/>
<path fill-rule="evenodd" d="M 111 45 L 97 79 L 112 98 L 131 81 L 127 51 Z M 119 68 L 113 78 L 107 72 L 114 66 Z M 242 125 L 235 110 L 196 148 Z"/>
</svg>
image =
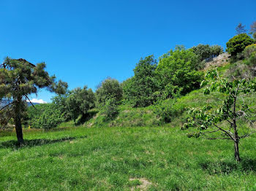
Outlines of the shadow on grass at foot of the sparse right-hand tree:
<svg viewBox="0 0 256 191">
<path fill-rule="evenodd" d="M 230 174 L 233 172 L 256 172 L 256 159 L 246 159 L 241 160 L 240 163 L 234 161 L 219 161 L 199 164 L 203 170 L 207 171 L 208 174 Z"/>
</svg>

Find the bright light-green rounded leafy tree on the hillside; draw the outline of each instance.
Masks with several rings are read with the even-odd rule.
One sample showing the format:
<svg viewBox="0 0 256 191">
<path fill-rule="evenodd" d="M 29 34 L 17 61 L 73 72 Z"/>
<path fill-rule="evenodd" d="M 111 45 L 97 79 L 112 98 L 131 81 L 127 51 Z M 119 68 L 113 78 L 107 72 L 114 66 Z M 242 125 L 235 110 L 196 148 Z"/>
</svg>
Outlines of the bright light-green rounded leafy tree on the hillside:
<svg viewBox="0 0 256 191">
<path fill-rule="evenodd" d="M 159 58 L 157 77 L 167 97 L 184 95 L 200 87 L 203 73 L 197 71 L 197 63 L 197 55 L 184 47 L 176 47 Z"/>
</svg>

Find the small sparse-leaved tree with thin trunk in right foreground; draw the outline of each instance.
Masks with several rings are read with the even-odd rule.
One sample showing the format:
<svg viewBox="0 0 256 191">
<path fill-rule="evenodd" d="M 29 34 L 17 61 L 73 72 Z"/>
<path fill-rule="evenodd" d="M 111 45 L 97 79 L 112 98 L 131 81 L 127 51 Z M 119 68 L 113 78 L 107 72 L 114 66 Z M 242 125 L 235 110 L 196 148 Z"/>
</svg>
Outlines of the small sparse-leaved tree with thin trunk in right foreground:
<svg viewBox="0 0 256 191">
<path fill-rule="evenodd" d="M 255 112 L 252 103 L 246 103 L 244 98 L 256 91 L 255 79 L 236 79 L 227 81 L 222 79 L 216 71 L 208 71 L 208 79 L 213 79 L 210 87 L 206 87 L 205 94 L 214 91 L 223 93 L 223 102 L 218 109 L 205 106 L 203 109 L 191 109 L 188 122 L 183 129 L 197 128 L 198 132 L 189 136 L 203 136 L 206 139 L 229 139 L 234 143 L 234 153 L 237 161 L 240 161 L 238 144 L 240 139 L 254 133 L 252 128 L 243 127 L 244 124 L 252 125 L 255 121 Z M 206 85 L 209 81 L 203 81 Z M 225 125 L 226 121 L 229 125 Z M 238 134 L 239 132 L 239 134 Z M 209 136 L 212 134 L 212 136 Z"/>
</svg>

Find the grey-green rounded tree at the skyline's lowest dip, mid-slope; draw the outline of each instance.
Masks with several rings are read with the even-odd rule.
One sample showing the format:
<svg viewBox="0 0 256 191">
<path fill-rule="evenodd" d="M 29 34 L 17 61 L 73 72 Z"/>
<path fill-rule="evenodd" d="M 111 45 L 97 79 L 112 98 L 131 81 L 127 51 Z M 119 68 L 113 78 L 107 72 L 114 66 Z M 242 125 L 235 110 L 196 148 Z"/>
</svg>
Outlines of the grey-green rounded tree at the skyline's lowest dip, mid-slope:
<svg viewBox="0 0 256 191">
<path fill-rule="evenodd" d="M 118 80 L 109 77 L 100 83 L 96 94 L 99 104 L 104 104 L 108 98 L 115 98 L 116 101 L 121 101 L 123 89 Z"/>
</svg>

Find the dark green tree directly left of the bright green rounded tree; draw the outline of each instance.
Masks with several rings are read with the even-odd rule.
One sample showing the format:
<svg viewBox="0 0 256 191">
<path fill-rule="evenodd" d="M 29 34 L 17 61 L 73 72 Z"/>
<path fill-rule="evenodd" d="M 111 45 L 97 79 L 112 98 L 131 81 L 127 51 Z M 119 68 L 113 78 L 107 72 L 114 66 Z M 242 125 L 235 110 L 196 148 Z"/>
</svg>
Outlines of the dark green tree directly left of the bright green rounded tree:
<svg viewBox="0 0 256 191">
<path fill-rule="evenodd" d="M 156 72 L 157 61 L 154 55 L 141 58 L 133 70 L 134 77 L 123 83 L 124 98 L 135 107 L 154 103 L 154 93 L 158 90 Z"/>
</svg>

